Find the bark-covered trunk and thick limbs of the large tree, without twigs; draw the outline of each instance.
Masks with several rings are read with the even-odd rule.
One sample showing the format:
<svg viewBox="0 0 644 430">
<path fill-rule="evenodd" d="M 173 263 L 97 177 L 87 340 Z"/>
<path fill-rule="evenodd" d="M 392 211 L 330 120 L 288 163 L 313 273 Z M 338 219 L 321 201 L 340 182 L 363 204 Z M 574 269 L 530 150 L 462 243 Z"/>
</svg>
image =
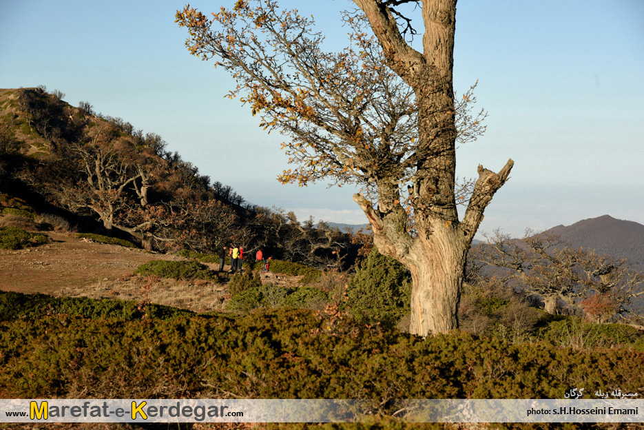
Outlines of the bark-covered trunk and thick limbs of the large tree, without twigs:
<svg viewBox="0 0 644 430">
<path fill-rule="evenodd" d="M 466 216 L 459 222 L 455 201 L 456 137 L 453 50 L 456 0 L 422 1 L 423 52 L 405 41 L 395 18 L 379 0 L 354 0 L 384 48 L 388 66 L 413 88 L 418 105 L 419 142 L 411 157 L 417 168 L 410 192 L 415 234 L 405 231 L 406 216 L 397 189 L 378 183 L 378 207 L 362 196 L 354 200 L 373 227 L 382 254 L 402 262 L 413 279 L 412 334 L 428 336 L 458 327 L 457 310 L 466 254 L 492 196 L 505 183 L 514 162 L 496 174 L 479 166 L 479 178 Z"/>
</svg>

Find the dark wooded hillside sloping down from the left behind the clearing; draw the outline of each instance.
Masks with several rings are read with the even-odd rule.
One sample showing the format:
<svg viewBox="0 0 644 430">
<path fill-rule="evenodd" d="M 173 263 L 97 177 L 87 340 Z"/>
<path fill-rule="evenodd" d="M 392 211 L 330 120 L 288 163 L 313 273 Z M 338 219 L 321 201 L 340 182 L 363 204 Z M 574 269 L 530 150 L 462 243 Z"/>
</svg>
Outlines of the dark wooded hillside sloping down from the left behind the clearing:
<svg viewBox="0 0 644 430">
<path fill-rule="evenodd" d="M 292 214 L 243 204 L 229 185 L 211 181 L 158 134 L 73 106 L 59 90 L 0 89 L 0 210 L 63 218 L 76 232 L 130 240 L 147 250 L 218 252 L 242 246 L 316 267 L 345 268 L 351 236 L 302 226 Z M 22 215 L 25 215 L 22 213 Z M 28 221 L 28 220 L 26 220 Z M 25 223 L 4 219 L 5 225 Z"/>
</svg>

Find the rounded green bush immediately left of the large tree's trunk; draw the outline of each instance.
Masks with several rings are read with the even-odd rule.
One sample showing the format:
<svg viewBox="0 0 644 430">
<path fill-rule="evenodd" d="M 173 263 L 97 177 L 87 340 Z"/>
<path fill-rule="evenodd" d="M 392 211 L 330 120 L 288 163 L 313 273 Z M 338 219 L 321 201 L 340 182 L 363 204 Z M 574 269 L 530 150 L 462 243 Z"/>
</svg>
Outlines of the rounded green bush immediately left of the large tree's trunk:
<svg viewBox="0 0 644 430">
<path fill-rule="evenodd" d="M 346 305 L 360 322 L 393 326 L 410 312 L 411 287 L 407 269 L 374 247 L 346 289 Z"/>
</svg>

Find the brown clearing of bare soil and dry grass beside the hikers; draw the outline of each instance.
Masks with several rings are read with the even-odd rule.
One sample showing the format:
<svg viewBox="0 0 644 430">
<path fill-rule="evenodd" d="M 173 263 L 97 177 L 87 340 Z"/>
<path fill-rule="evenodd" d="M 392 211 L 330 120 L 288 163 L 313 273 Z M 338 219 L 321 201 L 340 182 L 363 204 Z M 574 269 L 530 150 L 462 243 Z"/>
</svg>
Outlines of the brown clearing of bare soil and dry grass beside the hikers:
<svg viewBox="0 0 644 430">
<path fill-rule="evenodd" d="M 220 282 L 175 280 L 134 275 L 150 260 L 185 260 L 180 256 L 95 243 L 60 232 L 47 234 L 53 242 L 28 249 L 0 249 L 0 289 L 25 294 L 136 300 L 189 309 L 222 311 L 231 296 L 228 274 Z M 218 263 L 205 263 L 218 271 Z M 230 267 L 224 267 L 225 271 Z M 302 276 L 261 274 L 263 284 L 298 287 Z"/>
</svg>

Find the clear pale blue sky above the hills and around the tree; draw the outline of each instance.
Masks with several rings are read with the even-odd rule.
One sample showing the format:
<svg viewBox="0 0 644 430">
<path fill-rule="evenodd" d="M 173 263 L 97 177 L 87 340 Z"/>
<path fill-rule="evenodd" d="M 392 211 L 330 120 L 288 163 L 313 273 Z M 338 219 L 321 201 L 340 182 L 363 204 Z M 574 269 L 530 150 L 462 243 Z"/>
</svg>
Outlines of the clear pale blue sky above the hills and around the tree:
<svg viewBox="0 0 644 430">
<path fill-rule="evenodd" d="M 202 12 L 234 0 L 191 1 Z M 0 88 L 47 85 L 72 105 L 155 132 L 247 201 L 366 223 L 355 190 L 280 185 L 278 134 L 223 96 L 233 81 L 187 52 L 182 1 L 0 0 Z M 348 0 L 282 1 L 346 45 Z M 488 131 L 457 154 L 459 176 L 515 160 L 479 232 L 570 225 L 610 214 L 644 223 L 644 2 L 461 0 L 455 90 L 479 80 Z M 420 38 L 417 38 L 420 41 Z M 480 237 L 480 236 L 478 236 Z"/>
</svg>

